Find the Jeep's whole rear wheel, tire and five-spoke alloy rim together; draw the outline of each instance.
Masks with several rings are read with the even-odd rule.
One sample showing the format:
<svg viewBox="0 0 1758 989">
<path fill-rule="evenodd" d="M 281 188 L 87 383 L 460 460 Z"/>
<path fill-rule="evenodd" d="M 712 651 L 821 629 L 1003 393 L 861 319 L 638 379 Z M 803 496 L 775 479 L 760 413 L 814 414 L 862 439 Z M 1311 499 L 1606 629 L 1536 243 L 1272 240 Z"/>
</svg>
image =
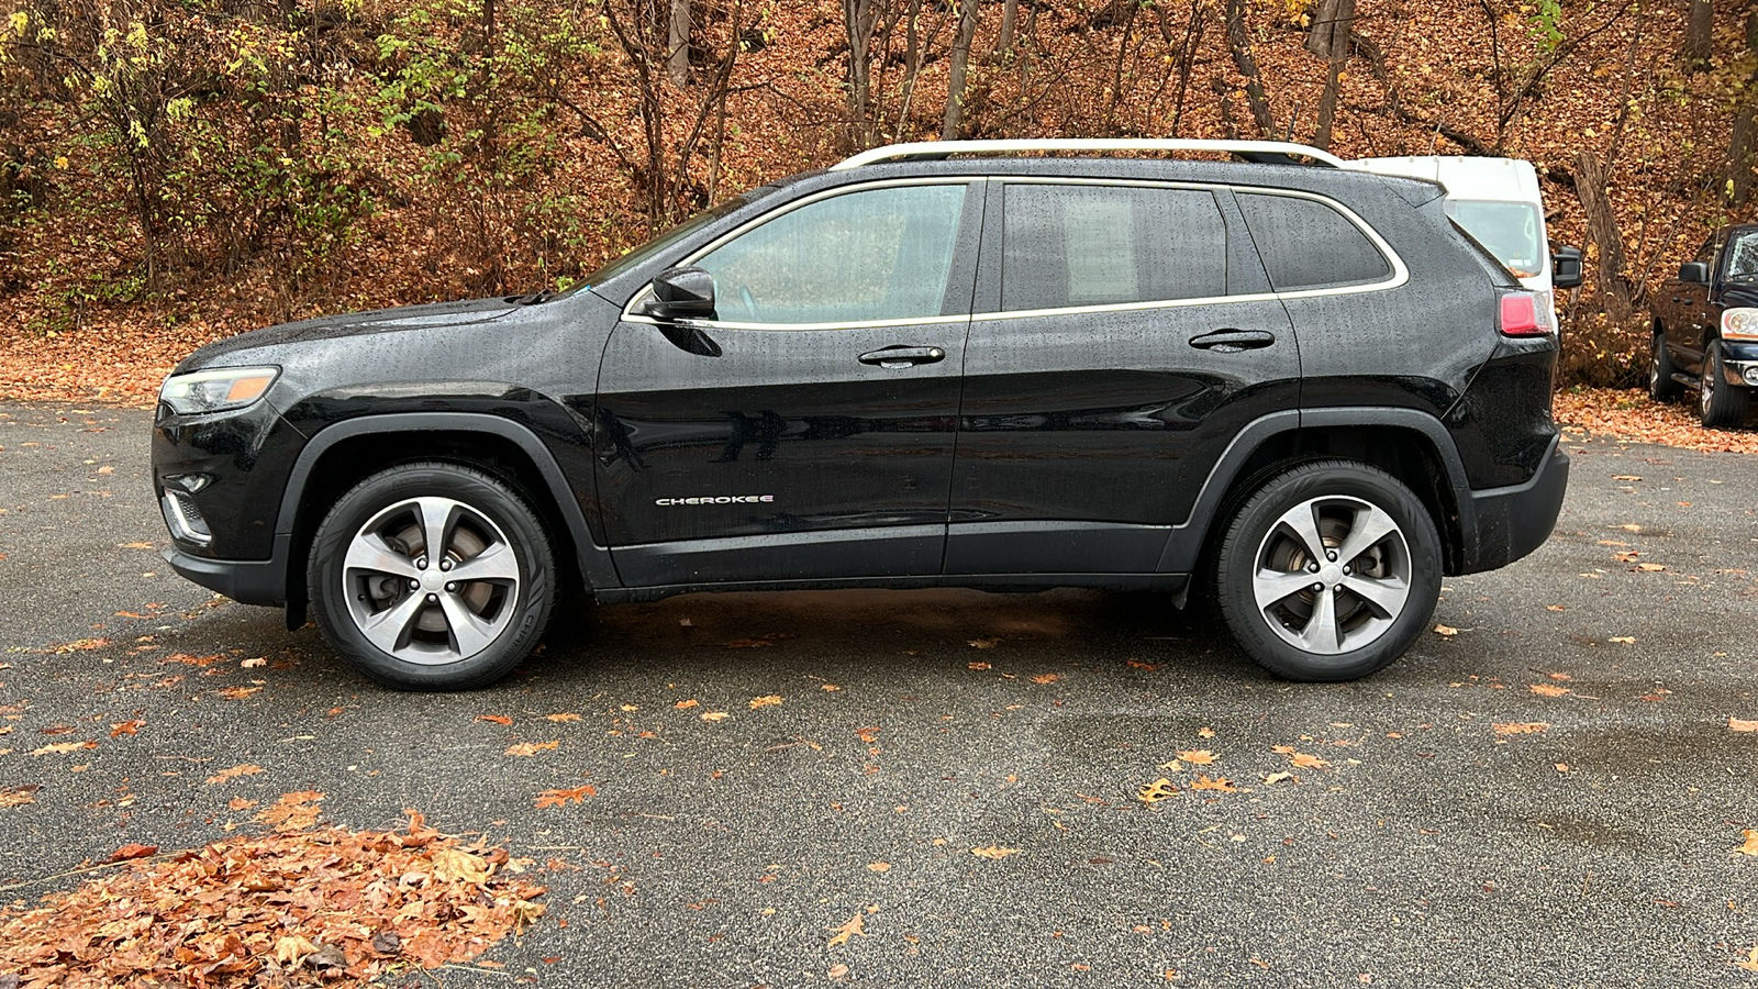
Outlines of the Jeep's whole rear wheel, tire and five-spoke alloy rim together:
<svg viewBox="0 0 1758 989">
<path fill-rule="evenodd" d="M 1369 542 L 1352 546 L 1357 533 Z M 1350 558 L 1315 561 L 1315 540 Z M 1259 665 L 1285 679 L 1355 679 L 1427 628 L 1440 600 L 1440 533 L 1427 507 L 1384 470 L 1311 461 L 1239 507 L 1215 574 L 1222 618 Z"/>
</svg>

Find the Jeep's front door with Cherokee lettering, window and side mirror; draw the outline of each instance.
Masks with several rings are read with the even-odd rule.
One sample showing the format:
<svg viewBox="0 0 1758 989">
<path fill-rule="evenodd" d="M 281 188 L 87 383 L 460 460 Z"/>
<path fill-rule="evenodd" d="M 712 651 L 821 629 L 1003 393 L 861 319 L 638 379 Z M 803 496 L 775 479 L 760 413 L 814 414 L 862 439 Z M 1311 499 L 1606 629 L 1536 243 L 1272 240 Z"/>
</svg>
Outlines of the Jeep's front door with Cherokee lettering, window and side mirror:
<svg viewBox="0 0 1758 989">
<path fill-rule="evenodd" d="M 624 586 L 941 572 L 981 181 L 782 206 L 687 264 L 717 315 L 631 315 L 599 368 Z"/>
</svg>

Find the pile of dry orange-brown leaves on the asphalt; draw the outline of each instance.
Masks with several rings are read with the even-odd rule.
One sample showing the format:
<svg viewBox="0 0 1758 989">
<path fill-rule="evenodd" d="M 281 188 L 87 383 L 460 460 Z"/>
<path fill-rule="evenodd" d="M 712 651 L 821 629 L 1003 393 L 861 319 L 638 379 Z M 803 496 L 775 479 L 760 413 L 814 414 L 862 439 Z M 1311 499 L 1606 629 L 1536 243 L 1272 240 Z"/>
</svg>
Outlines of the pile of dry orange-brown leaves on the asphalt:
<svg viewBox="0 0 1758 989">
<path fill-rule="evenodd" d="M 301 831 L 320 799 L 283 797 L 274 834 L 141 859 L 0 910 L 0 982 L 353 985 L 469 961 L 543 915 L 543 887 L 513 878 L 505 848 L 441 836 L 418 811 L 408 832 Z"/>
</svg>

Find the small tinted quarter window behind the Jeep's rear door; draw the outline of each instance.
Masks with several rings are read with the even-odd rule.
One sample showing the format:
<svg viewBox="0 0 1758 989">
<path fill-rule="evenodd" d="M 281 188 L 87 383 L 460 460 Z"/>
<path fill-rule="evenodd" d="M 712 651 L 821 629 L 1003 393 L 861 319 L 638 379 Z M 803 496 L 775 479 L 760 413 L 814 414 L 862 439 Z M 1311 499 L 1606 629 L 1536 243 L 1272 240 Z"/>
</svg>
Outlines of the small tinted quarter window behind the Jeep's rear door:
<svg viewBox="0 0 1758 989">
<path fill-rule="evenodd" d="M 1392 264 L 1331 206 L 1294 195 L 1239 194 L 1252 241 L 1278 292 L 1380 282 Z"/>
</svg>

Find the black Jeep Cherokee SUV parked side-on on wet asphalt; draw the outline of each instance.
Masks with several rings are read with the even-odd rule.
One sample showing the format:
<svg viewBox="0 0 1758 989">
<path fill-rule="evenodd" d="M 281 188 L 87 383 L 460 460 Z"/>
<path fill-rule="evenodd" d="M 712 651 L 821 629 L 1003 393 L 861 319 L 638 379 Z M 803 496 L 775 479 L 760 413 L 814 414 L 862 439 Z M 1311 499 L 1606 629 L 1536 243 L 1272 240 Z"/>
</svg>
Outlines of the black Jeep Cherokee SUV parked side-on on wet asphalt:
<svg viewBox="0 0 1758 989">
<path fill-rule="evenodd" d="M 406 688 L 501 678 L 573 586 L 1197 584 L 1347 679 L 1551 533 L 1549 308 L 1440 187 L 969 153 L 1016 146 L 1078 148 L 868 151 L 559 296 L 213 343 L 160 396 L 167 558 Z"/>
</svg>

